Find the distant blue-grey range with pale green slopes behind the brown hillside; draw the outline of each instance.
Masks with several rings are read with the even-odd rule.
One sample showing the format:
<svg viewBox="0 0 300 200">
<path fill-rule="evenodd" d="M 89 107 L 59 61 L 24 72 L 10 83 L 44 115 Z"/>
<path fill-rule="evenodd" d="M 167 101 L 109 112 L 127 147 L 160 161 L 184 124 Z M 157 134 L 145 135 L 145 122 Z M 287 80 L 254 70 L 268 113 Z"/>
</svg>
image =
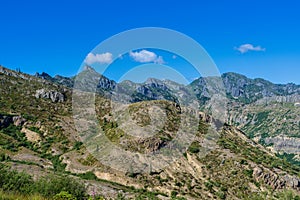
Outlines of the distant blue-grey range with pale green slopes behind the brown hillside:
<svg viewBox="0 0 300 200">
<path fill-rule="evenodd" d="M 90 67 L 86 68 L 93 71 Z M 75 77 L 52 78 L 46 73 L 37 76 L 67 87 L 73 86 L 75 80 Z M 249 137 L 274 152 L 282 155 L 287 153 L 286 157 L 291 162 L 298 162 L 300 86 L 291 83 L 273 84 L 259 78 L 249 79 L 237 73 L 225 73 L 221 78 L 228 101 L 226 122 L 239 127 Z M 213 84 L 209 86 L 208 81 L 207 78 L 199 78 L 188 86 L 156 79 L 149 79 L 142 84 L 128 81 L 116 84 L 101 76 L 97 89 L 108 97 L 117 94 L 116 98 L 126 102 L 168 99 L 189 104 L 197 98 L 200 106 L 205 107 L 211 99 L 209 90 L 220 90 L 212 88 Z"/>
</svg>

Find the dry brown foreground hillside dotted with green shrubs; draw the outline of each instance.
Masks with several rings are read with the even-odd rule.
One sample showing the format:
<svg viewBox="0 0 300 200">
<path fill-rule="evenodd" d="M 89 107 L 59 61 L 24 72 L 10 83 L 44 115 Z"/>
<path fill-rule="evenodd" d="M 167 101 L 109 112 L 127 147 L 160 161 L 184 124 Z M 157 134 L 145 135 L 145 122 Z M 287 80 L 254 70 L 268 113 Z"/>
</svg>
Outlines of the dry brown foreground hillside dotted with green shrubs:
<svg viewBox="0 0 300 200">
<path fill-rule="evenodd" d="M 148 173 L 112 169 L 99 162 L 80 141 L 72 118 L 70 88 L 1 70 L 5 73 L 0 73 L 0 157 L 2 164 L 13 169 L 25 170 L 35 178 L 48 173 L 77 177 L 89 194 L 114 199 L 120 196 L 119 191 L 131 199 L 282 199 L 300 195 L 299 167 L 276 157 L 230 125 L 225 125 L 214 140 L 209 134 L 211 119 L 204 114 L 187 152 L 166 168 Z M 42 95 L 36 95 L 42 89 Z M 52 100 L 57 93 L 63 95 L 62 101 Z M 120 147 L 153 152 L 168 143 L 177 129 L 176 102 L 165 99 L 130 103 L 132 119 L 140 126 L 151 124 L 145 115 L 149 105 L 169 109 L 166 130 L 151 140 L 136 140 L 118 131 L 107 101 L 101 95 L 96 98 L 99 123 L 106 136 Z"/>
</svg>

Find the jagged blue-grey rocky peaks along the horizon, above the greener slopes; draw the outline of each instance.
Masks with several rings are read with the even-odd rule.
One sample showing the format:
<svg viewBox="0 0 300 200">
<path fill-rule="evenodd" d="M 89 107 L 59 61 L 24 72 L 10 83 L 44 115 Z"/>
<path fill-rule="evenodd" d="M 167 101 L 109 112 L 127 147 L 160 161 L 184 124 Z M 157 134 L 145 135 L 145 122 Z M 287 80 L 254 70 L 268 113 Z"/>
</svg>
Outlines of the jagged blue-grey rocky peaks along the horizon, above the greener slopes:
<svg viewBox="0 0 300 200">
<path fill-rule="evenodd" d="M 91 67 L 86 67 L 85 70 L 93 70 Z M 51 81 L 53 83 L 62 84 L 67 87 L 73 87 L 74 80 L 76 77 L 63 77 L 60 75 L 56 75 L 55 77 L 51 77 L 49 74 L 42 72 L 41 74 L 36 73 L 35 77 Z M 224 88 L 226 90 L 228 98 L 235 100 L 240 103 L 254 103 L 261 99 L 270 99 L 276 100 L 276 97 L 290 97 L 285 99 L 285 101 L 293 101 L 296 103 L 297 98 L 300 96 L 300 85 L 296 85 L 293 83 L 288 84 L 273 84 L 269 81 L 266 81 L 261 78 L 250 79 L 244 75 L 237 73 L 224 73 L 221 76 Z M 160 95 L 169 96 L 170 94 L 160 94 L 159 89 L 167 92 L 168 90 L 174 89 L 183 89 L 183 85 L 175 83 L 173 81 L 160 81 L 154 78 L 148 79 L 145 83 L 136 84 L 131 83 L 120 83 L 117 84 L 115 81 L 110 80 L 109 78 L 102 76 L 99 79 L 99 83 L 97 84 L 97 88 L 108 90 L 114 90 L 118 85 L 120 88 L 124 87 L 126 84 L 126 89 L 132 91 L 134 89 L 137 97 L 132 101 L 139 101 L 143 99 L 159 99 Z M 205 78 L 198 78 L 190 83 L 186 88 L 191 88 L 194 91 L 194 94 L 200 97 L 208 97 L 206 87 Z M 185 89 L 186 89 L 185 88 Z M 157 89 L 157 91 L 155 91 Z M 163 93 L 164 93 L 163 92 Z M 139 97 L 138 97 L 139 96 Z M 162 97 L 161 96 L 161 97 Z M 294 97 L 294 98 L 293 98 Z"/>
</svg>

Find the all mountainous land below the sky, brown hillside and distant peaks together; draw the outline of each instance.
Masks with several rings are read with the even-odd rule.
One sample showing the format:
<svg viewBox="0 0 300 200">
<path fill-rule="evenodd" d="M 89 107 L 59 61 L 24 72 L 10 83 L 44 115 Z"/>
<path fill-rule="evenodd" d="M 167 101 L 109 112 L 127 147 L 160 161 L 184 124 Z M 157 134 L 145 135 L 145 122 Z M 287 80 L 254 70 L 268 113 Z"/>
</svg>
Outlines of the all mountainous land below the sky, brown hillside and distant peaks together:
<svg viewBox="0 0 300 200">
<path fill-rule="evenodd" d="M 276 85 L 233 73 L 222 75 L 228 119 L 218 137 L 210 137 L 214 119 L 200 112 L 197 133 L 180 158 L 160 170 L 136 173 L 104 165 L 87 151 L 73 120 L 75 78 L 46 73 L 30 76 L 0 67 L 1 197 L 299 199 L 299 86 Z M 126 90 L 118 94 L 124 97 L 121 103 L 128 104 L 128 116 L 116 118 L 110 112 L 118 110 L 105 97 L 114 96 L 114 91 L 123 87 Z M 177 91 L 182 91 L 183 97 L 193 92 L 201 105 L 211 98 L 206 87 L 203 78 L 184 86 L 155 79 L 143 84 L 116 83 L 99 75 L 97 123 L 116 146 L 132 152 L 155 152 L 178 130 L 182 106 L 178 107 L 172 91 L 180 88 Z M 153 113 L 166 120 L 155 121 Z M 124 128 L 131 126 L 121 126 L 124 119 L 138 127 L 155 124 L 158 128 L 153 138 L 137 139 L 128 134 L 132 130 Z M 139 134 L 144 137 L 145 133 Z"/>
</svg>

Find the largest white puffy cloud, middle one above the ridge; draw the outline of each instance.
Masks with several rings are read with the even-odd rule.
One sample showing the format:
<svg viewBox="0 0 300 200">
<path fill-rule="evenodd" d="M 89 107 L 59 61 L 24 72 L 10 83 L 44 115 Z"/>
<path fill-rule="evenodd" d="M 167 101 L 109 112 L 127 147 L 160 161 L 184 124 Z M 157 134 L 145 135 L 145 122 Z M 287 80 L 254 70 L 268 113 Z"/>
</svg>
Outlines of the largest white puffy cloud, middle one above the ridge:
<svg viewBox="0 0 300 200">
<path fill-rule="evenodd" d="M 129 55 L 136 62 L 140 62 L 140 63 L 149 63 L 149 62 L 154 62 L 158 64 L 165 63 L 162 56 L 157 56 L 155 53 L 147 50 L 130 52 Z"/>
</svg>

